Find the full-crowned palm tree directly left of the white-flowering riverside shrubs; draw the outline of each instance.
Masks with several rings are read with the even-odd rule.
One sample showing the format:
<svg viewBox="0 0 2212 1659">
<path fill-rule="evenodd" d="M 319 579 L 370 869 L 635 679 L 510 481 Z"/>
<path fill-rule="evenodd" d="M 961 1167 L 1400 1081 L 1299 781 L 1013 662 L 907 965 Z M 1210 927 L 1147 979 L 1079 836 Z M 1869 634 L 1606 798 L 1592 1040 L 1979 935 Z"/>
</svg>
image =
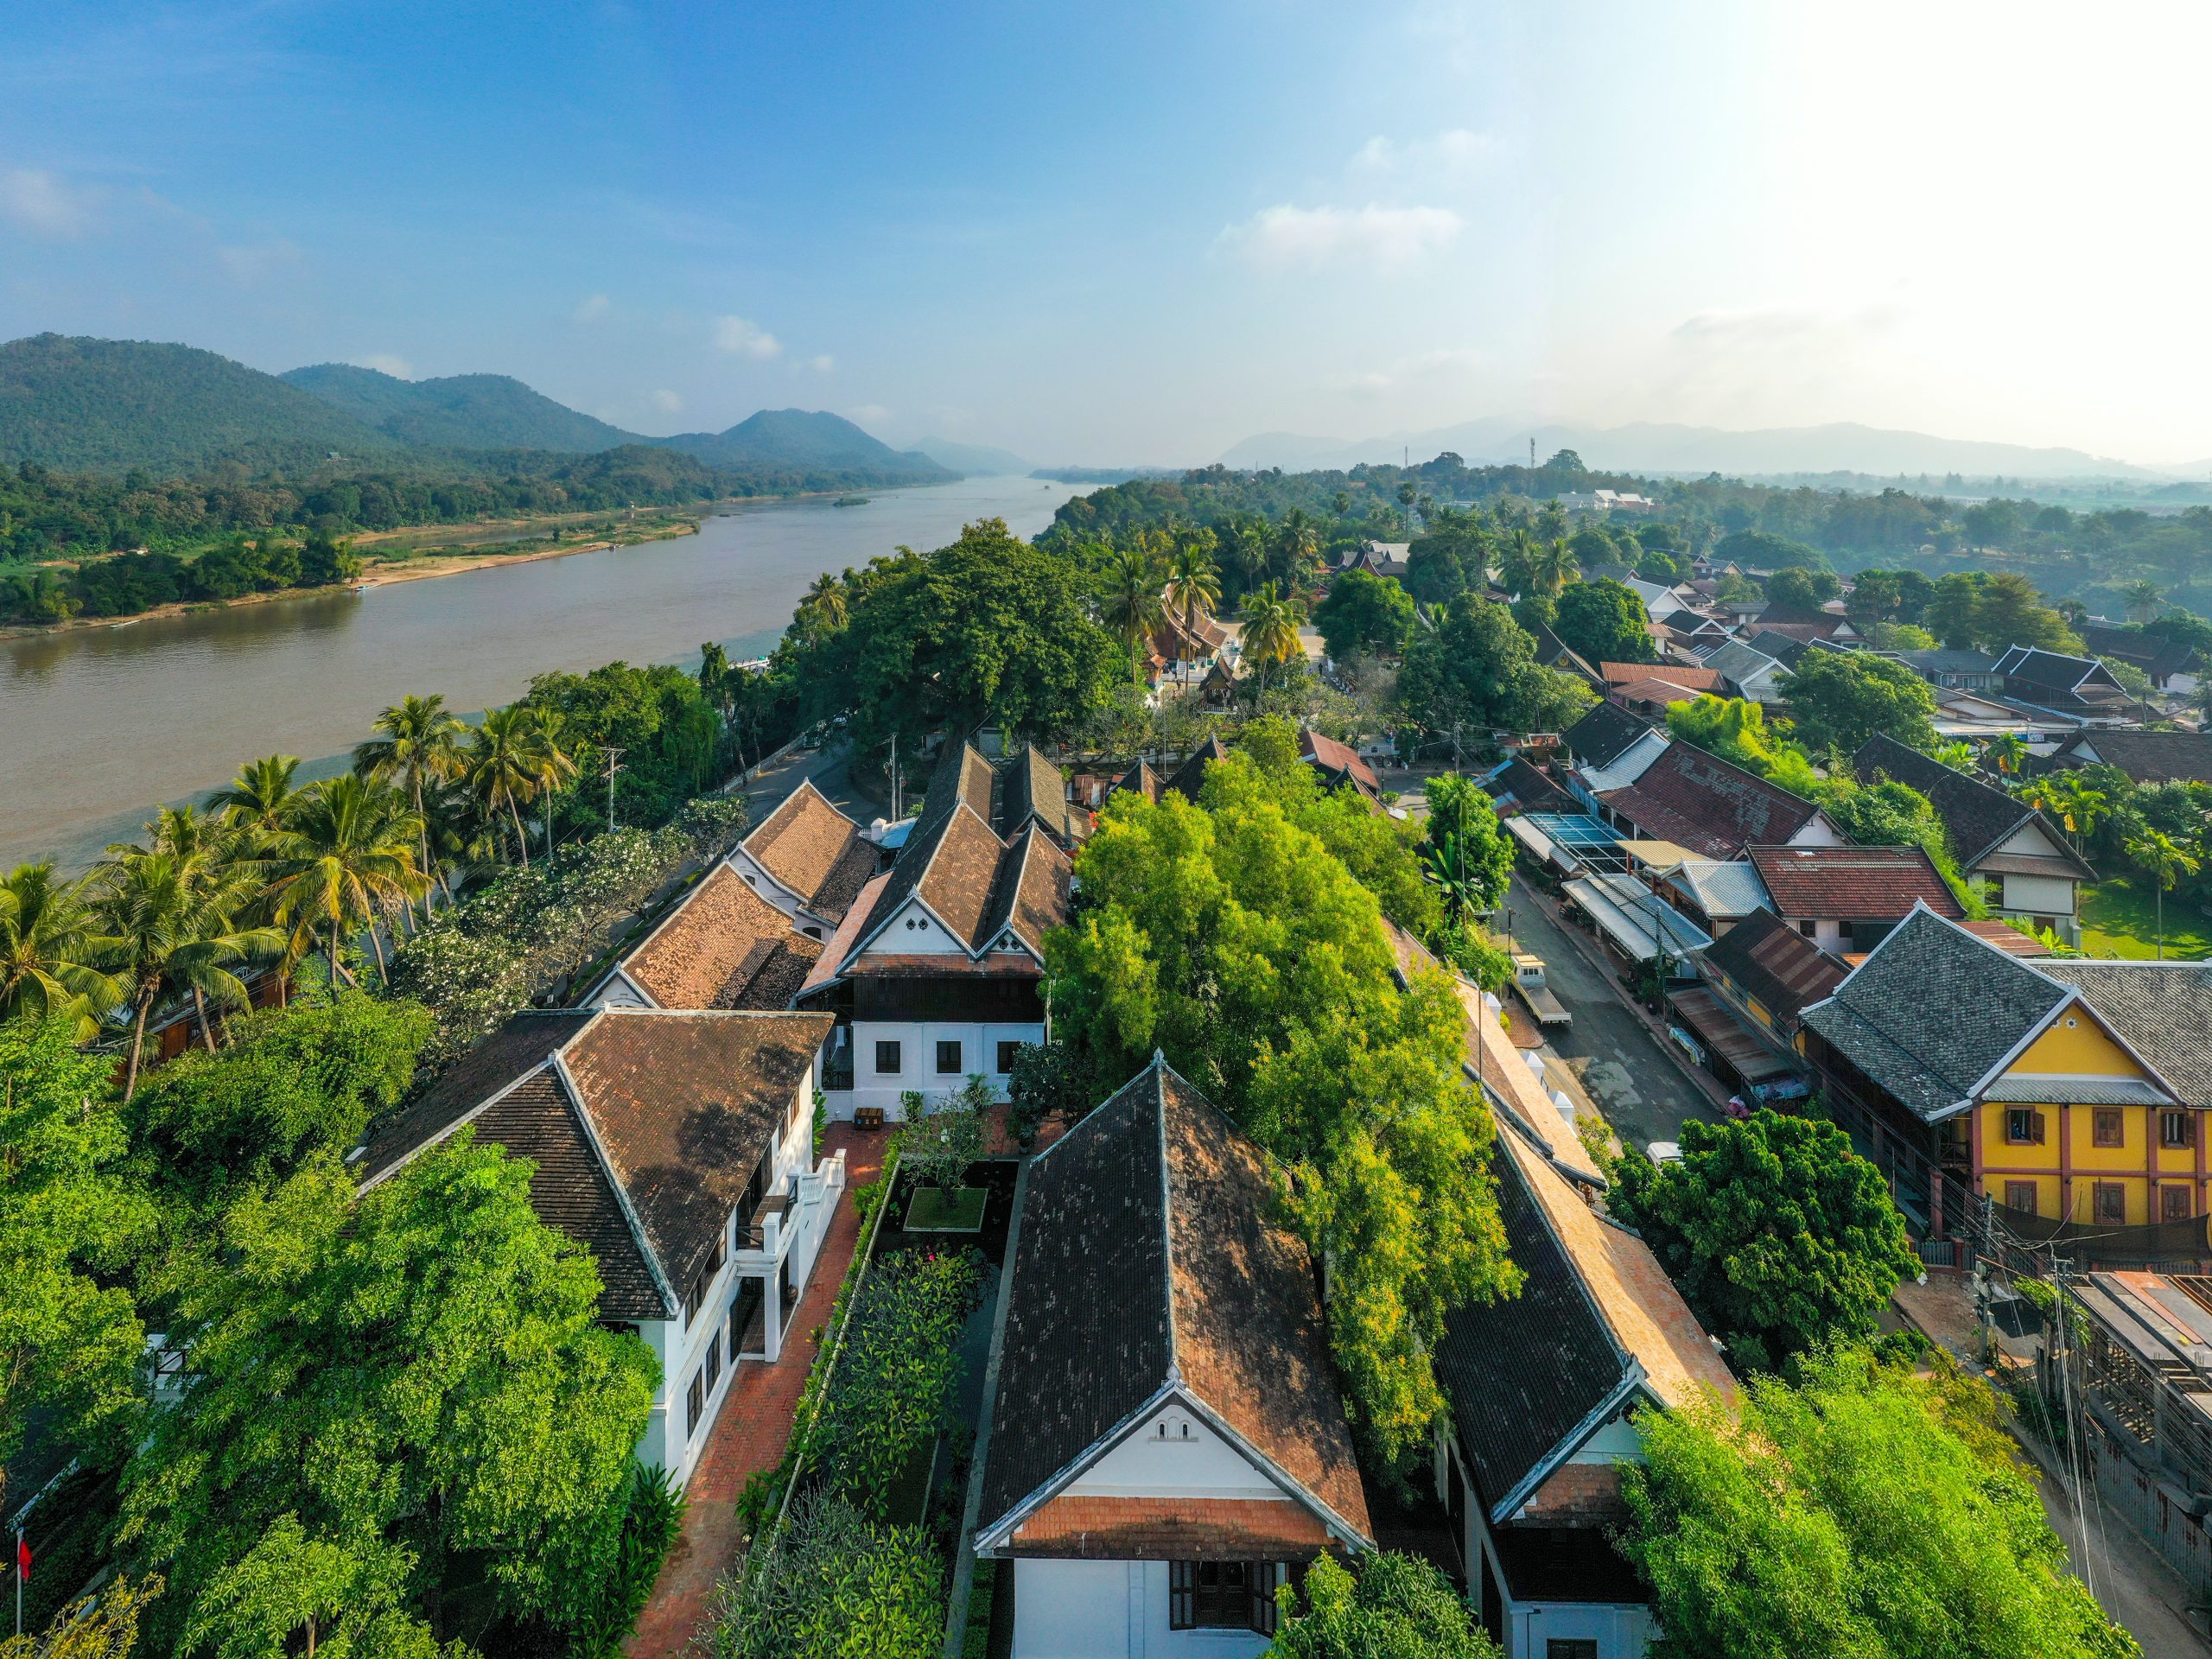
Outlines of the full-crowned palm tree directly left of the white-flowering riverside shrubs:
<svg viewBox="0 0 2212 1659">
<path fill-rule="evenodd" d="M 292 927 L 288 956 L 296 962 L 323 942 L 336 984 L 341 942 L 367 929 L 376 975 L 387 980 L 376 922 L 429 887 L 414 860 L 420 841 L 422 818 L 398 790 L 352 774 L 314 785 L 292 814 L 292 827 L 270 845 L 270 896 L 276 920 Z"/>
</svg>

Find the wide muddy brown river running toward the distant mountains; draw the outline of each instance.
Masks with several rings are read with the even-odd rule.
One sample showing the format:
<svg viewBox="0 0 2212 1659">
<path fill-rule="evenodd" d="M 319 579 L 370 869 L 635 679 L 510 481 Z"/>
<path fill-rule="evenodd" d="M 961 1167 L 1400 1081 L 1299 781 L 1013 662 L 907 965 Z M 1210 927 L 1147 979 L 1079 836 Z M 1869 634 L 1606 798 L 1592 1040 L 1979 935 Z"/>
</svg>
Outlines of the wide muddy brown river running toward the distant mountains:
<svg viewBox="0 0 2212 1659">
<path fill-rule="evenodd" d="M 962 478 L 865 507 L 763 502 L 668 542 L 0 639 L 0 869 L 82 869 L 157 803 L 204 796 L 257 754 L 303 754 L 303 774 L 325 776 L 405 692 L 476 712 L 555 668 L 697 664 L 708 639 L 759 657 L 823 571 L 942 546 L 980 518 L 1035 535 L 1073 493 Z"/>
</svg>

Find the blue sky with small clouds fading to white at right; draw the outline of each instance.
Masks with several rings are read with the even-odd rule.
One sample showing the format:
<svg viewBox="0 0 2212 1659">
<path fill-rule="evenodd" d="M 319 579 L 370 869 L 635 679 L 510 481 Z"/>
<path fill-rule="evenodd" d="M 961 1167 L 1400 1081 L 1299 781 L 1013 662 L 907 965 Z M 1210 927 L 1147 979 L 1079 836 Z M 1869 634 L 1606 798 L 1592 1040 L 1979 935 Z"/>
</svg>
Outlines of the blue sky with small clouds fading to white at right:
<svg viewBox="0 0 2212 1659">
<path fill-rule="evenodd" d="M 2212 456 L 2201 4 L 0 15 L 0 338 L 1037 462 L 1480 418 Z"/>
</svg>

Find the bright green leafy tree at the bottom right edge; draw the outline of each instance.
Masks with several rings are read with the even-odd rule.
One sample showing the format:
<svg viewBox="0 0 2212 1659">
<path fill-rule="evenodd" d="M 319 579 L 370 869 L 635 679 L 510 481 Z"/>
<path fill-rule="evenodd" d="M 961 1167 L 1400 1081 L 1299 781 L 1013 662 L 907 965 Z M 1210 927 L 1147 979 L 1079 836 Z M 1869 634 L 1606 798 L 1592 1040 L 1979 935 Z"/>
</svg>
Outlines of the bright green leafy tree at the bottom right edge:
<svg viewBox="0 0 2212 1659">
<path fill-rule="evenodd" d="M 1838 1352 L 1801 1387 L 1752 1383 L 1741 1413 L 1639 1418 L 1624 1548 L 1655 1659 L 2141 1659 L 2002 1436 L 1958 1411 L 1942 1380 Z"/>
</svg>

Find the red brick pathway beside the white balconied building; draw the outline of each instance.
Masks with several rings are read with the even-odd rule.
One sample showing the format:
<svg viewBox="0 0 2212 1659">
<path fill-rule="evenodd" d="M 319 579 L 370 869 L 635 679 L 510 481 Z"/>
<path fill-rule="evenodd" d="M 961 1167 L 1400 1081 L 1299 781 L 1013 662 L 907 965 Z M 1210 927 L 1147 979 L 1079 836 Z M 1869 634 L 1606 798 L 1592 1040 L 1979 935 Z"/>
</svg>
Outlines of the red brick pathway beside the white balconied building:
<svg viewBox="0 0 2212 1659">
<path fill-rule="evenodd" d="M 832 1124 L 825 1152 L 845 1148 L 847 1186 L 872 1181 L 883 1166 L 883 1133 L 860 1133 L 849 1124 Z M 836 1303 L 838 1285 L 860 1243 L 860 1219 L 849 1197 L 838 1199 L 814 1261 L 814 1279 L 799 1298 L 783 1358 L 774 1365 L 748 1360 L 737 1367 L 730 1396 L 721 1402 L 706 1451 L 690 1480 L 690 1506 L 684 1531 L 661 1564 L 653 1599 L 637 1619 L 637 1632 L 624 1646 L 630 1659 L 672 1659 L 684 1652 L 706 1626 L 714 1586 L 737 1562 L 743 1540 L 737 1531 L 737 1498 L 759 1469 L 774 1469 L 792 1438 L 792 1413 L 805 1387 L 814 1349 Z"/>
</svg>

